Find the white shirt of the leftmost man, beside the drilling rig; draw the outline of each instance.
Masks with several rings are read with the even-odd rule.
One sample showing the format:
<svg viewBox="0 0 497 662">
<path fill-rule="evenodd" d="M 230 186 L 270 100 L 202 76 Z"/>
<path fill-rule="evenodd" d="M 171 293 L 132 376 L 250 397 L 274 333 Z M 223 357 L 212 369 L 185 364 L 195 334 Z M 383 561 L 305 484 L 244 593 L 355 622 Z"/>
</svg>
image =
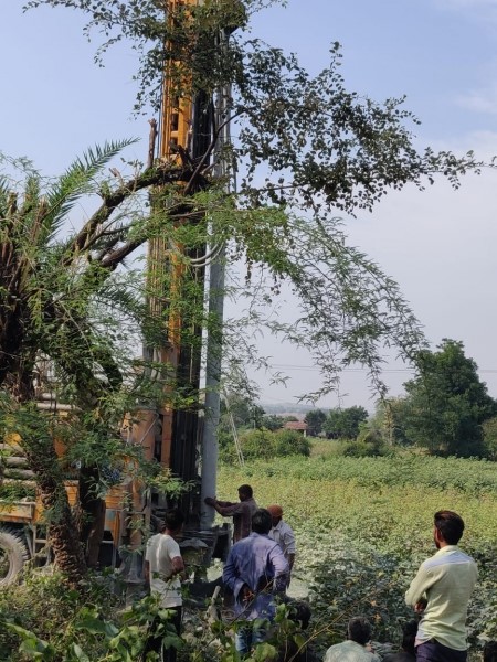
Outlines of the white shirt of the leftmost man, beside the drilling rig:
<svg viewBox="0 0 497 662">
<path fill-rule="evenodd" d="M 150 592 L 160 595 L 161 607 L 180 607 L 181 583 L 172 576 L 172 559 L 181 557 L 178 543 L 166 533 L 152 535 L 147 543 L 145 560 L 149 563 Z"/>
</svg>

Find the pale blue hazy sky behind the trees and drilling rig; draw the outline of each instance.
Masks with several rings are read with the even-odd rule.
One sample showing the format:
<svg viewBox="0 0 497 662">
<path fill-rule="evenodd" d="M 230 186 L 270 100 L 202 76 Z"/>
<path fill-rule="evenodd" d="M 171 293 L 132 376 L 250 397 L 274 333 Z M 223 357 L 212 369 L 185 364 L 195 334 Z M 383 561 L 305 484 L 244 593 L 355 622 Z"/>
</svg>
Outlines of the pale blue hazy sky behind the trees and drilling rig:
<svg viewBox="0 0 497 662">
<path fill-rule="evenodd" d="M 0 8 L 0 151 L 29 157 L 54 175 L 94 143 L 137 136 L 141 142 L 126 156 L 144 160 L 148 117 L 131 117 L 133 51 L 119 45 L 101 68 L 93 63 L 98 35 L 86 41 L 77 12 L 22 13 L 22 4 L 3 0 Z M 422 121 L 419 147 L 473 149 L 482 160 L 497 154 L 497 0 L 288 0 L 256 17 L 253 32 L 297 53 L 314 73 L 340 42 L 348 88 L 378 102 L 405 95 L 405 107 Z M 443 338 L 463 341 L 494 397 L 496 190 L 497 171 L 486 169 L 464 178 L 457 191 L 446 182 L 424 192 L 408 188 L 372 213 L 345 220 L 350 243 L 399 282 L 432 346 Z M 84 204 L 80 213 L 87 213 Z M 318 373 L 306 354 L 264 342 L 264 354 L 290 378 L 283 388 L 253 375 L 263 403 L 290 403 L 316 388 Z M 387 362 L 391 395 L 411 376 L 408 366 Z M 319 405 L 372 409 L 373 402 L 358 367 Z"/>
</svg>

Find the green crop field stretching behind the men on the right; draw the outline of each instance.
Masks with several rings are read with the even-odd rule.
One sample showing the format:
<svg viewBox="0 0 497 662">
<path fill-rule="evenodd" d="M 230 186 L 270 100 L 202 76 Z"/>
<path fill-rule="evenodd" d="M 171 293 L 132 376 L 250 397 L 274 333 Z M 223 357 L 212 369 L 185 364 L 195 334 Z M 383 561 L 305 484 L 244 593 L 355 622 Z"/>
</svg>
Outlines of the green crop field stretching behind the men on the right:
<svg viewBox="0 0 497 662">
<path fill-rule="evenodd" d="M 346 458 L 319 442 L 310 458 L 221 467 L 218 495 L 235 499 L 248 482 L 262 506 L 279 503 L 298 543 L 296 575 L 309 584 L 321 645 L 340 639 L 350 616 L 366 615 L 381 641 L 399 638 L 412 615 L 403 594 L 434 553 L 433 513 L 458 512 L 461 546 L 480 580 L 468 630 L 474 650 L 497 638 L 497 465 L 419 455 Z"/>
</svg>

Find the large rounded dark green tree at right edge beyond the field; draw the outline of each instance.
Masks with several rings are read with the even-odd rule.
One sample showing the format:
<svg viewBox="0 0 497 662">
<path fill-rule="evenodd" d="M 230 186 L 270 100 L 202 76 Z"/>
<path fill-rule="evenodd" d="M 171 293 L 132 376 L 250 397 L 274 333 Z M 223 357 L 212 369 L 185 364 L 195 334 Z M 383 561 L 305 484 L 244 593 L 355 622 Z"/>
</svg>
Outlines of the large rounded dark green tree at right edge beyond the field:
<svg viewBox="0 0 497 662">
<path fill-rule="evenodd" d="M 420 354 L 419 375 L 404 384 L 406 436 L 433 455 L 482 457 L 482 424 L 496 415 L 497 402 L 462 342 L 444 339 L 437 350 Z"/>
</svg>

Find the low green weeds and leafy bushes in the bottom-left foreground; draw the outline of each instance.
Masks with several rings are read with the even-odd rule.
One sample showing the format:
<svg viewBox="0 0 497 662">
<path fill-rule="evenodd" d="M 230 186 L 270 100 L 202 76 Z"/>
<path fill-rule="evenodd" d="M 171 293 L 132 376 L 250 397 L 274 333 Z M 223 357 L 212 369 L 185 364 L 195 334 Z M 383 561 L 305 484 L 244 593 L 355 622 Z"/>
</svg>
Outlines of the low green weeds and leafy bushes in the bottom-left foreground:
<svg viewBox="0 0 497 662">
<path fill-rule="evenodd" d="M 157 616 L 166 626 L 155 632 Z M 167 618 L 151 597 L 123 610 L 109 577 L 89 576 L 78 592 L 67 591 L 56 574 L 33 572 L 0 597 L 0 660 L 129 662 L 140 659 L 149 634 L 162 634 L 166 645 L 182 644 Z"/>
</svg>

